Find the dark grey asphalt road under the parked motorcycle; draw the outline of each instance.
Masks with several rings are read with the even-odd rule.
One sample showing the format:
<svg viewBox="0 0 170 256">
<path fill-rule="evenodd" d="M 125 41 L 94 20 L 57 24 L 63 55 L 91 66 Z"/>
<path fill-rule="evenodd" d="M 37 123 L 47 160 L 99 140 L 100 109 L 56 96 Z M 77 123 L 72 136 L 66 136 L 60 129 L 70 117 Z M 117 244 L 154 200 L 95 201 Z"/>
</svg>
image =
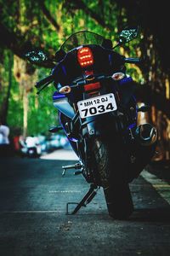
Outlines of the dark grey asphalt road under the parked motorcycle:
<svg viewBox="0 0 170 256">
<path fill-rule="evenodd" d="M 167 181 L 144 171 L 131 184 L 134 212 L 126 221 L 109 217 L 102 189 L 77 215 L 65 215 L 66 203 L 88 190 L 74 171 L 61 176 L 71 163 L 0 160 L 0 255 L 170 255 Z"/>
</svg>

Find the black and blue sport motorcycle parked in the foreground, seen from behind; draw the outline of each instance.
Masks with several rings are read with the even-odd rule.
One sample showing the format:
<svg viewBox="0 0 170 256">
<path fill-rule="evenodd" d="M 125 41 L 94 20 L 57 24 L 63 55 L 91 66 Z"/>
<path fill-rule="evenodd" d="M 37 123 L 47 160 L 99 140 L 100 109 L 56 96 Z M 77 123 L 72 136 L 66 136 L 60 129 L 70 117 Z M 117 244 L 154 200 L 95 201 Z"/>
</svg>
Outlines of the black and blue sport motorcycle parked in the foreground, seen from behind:
<svg viewBox="0 0 170 256">
<path fill-rule="evenodd" d="M 138 64 L 139 58 L 126 58 L 116 53 L 117 46 L 136 38 L 138 28 L 124 29 L 113 47 L 110 39 L 94 32 L 73 33 L 50 59 L 42 49 L 30 50 L 31 63 L 52 67 L 45 79 L 37 82 L 39 94 L 54 82 L 54 107 L 59 111 L 60 129 L 71 143 L 79 162 L 73 166 L 90 184 L 88 193 L 77 203 L 75 214 L 93 200 L 97 190 L 104 189 L 111 218 L 125 219 L 133 212 L 129 183 L 139 176 L 156 150 L 157 131 L 149 123 L 137 124 L 139 112 L 135 83 L 126 74 L 125 63 Z"/>
</svg>

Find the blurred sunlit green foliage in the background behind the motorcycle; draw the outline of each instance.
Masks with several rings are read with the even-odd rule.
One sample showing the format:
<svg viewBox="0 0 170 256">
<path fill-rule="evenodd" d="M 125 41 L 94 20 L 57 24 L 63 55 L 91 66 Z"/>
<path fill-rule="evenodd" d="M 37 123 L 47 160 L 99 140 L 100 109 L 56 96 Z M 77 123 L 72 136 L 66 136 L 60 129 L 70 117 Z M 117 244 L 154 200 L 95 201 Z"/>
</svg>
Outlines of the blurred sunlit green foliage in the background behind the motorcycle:
<svg viewBox="0 0 170 256">
<path fill-rule="evenodd" d="M 96 32 L 105 38 L 111 38 L 116 44 L 117 32 L 127 22 L 125 9 L 119 9 L 114 1 L 64 1 L 64 0 L 0 0 L 0 25 L 14 33 L 17 45 L 3 44 L 0 50 L 1 65 L 1 98 L 6 96 L 8 87 L 8 53 L 7 48 L 14 52 L 20 51 L 23 45 L 31 43 L 35 47 L 42 47 L 50 55 L 54 55 L 59 45 L 68 38 L 72 32 L 88 30 Z M 140 38 L 135 39 L 124 47 L 123 54 L 136 57 L 140 55 Z M 1 43 L 0 43 L 1 44 Z M 120 51 L 120 49 L 116 49 Z M 36 67 L 37 68 L 37 67 Z M 22 72 L 22 71 L 21 71 Z M 38 68 L 37 80 L 42 79 L 49 71 Z M 144 83 L 144 77 L 139 67 L 127 65 L 127 73 L 133 79 Z M 12 78 L 8 107 L 8 125 L 11 127 L 23 126 L 23 88 L 20 83 Z M 33 87 L 33 83 L 32 83 Z M 45 132 L 48 126 L 55 125 L 56 110 L 53 107 L 52 95 L 54 88 L 50 87 L 37 97 L 36 90 L 28 93 L 28 134 Z"/>
</svg>

